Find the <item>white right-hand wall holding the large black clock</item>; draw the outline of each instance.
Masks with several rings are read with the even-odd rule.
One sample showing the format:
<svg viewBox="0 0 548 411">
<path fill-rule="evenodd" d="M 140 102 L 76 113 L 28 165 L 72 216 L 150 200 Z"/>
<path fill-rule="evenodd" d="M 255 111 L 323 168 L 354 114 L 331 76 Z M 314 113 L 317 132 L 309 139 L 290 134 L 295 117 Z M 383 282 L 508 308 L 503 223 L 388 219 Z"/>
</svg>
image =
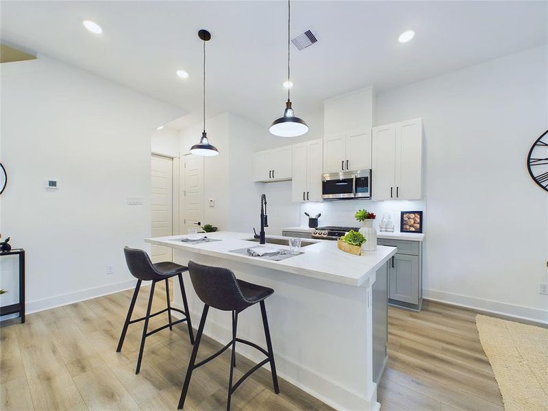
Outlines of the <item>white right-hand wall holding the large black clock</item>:
<svg viewBox="0 0 548 411">
<path fill-rule="evenodd" d="M 548 193 L 525 166 L 547 76 L 538 47 L 377 95 L 377 124 L 423 119 L 425 297 L 548 321 Z"/>
</svg>

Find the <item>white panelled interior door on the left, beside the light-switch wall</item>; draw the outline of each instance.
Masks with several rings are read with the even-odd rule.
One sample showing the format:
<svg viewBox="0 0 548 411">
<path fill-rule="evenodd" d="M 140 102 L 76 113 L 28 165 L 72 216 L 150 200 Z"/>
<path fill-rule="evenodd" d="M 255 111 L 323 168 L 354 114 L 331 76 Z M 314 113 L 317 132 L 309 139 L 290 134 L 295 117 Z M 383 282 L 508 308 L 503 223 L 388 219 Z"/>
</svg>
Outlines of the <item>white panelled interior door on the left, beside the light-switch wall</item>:
<svg viewBox="0 0 548 411">
<path fill-rule="evenodd" d="M 173 159 L 152 155 L 151 158 L 151 235 L 173 235 Z M 152 262 L 171 261 L 171 248 L 152 246 Z"/>
</svg>

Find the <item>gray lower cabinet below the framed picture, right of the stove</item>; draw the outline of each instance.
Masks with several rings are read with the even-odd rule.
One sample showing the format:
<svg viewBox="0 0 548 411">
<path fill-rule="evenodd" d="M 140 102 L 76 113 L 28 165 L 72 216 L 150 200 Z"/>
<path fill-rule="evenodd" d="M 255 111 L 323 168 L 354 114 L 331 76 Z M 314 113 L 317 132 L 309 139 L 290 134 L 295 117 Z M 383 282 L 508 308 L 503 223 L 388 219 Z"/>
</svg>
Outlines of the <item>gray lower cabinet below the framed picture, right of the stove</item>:
<svg viewBox="0 0 548 411">
<path fill-rule="evenodd" d="M 410 240 L 378 240 L 397 247 L 388 265 L 388 301 L 393 306 L 421 310 L 423 303 L 423 244 Z"/>
</svg>

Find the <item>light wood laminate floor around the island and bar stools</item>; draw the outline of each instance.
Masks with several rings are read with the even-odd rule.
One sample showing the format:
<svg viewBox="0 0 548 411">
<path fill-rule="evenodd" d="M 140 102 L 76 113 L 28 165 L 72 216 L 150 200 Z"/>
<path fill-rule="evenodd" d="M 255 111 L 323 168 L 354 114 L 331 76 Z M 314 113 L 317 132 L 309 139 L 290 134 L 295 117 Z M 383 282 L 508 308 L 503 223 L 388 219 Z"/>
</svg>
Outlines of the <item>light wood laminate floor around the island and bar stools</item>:
<svg viewBox="0 0 548 411">
<path fill-rule="evenodd" d="M 148 292 L 142 288 L 134 318 L 145 313 Z M 4 321 L 0 409 L 176 410 L 192 347 L 186 324 L 147 338 L 141 372 L 135 375 L 142 323 L 129 326 L 122 352 L 115 352 L 131 296 L 127 290 L 30 314 L 23 325 Z M 153 310 L 163 308 L 165 289 L 159 283 Z M 474 316 L 471 310 L 427 301 L 420 313 L 389 309 L 389 361 L 378 389 L 382 410 L 503 409 Z M 150 327 L 166 321 L 166 314 L 155 316 Z M 194 321 L 197 326 L 199 319 Z M 204 338 L 199 358 L 219 347 Z M 185 410 L 225 409 L 229 356 L 225 351 L 192 374 Z M 251 366 L 238 356 L 236 378 Z M 261 369 L 236 390 L 232 409 L 332 410 L 283 379 L 280 390 L 273 393 L 270 372 Z"/>
</svg>

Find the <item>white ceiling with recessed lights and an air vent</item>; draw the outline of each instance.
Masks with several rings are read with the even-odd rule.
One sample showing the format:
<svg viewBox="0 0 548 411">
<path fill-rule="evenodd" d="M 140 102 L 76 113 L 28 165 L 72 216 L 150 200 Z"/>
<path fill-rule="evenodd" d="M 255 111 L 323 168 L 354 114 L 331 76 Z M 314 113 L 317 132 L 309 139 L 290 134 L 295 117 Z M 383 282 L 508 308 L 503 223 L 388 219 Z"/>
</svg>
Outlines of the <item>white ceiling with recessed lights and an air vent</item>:
<svg viewBox="0 0 548 411">
<path fill-rule="evenodd" d="M 231 110 L 268 127 L 286 99 L 285 1 L 2 1 L 1 38 L 173 103 L 201 118 L 201 40 L 208 43 L 208 116 Z M 103 27 L 84 29 L 90 19 Z M 545 1 L 293 1 L 296 114 L 324 99 L 378 90 L 547 41 Z M 416 36 L 397 38 L 406 29 Z M 175 74 L 184 69 L 188 79 Z"/>
</svg>

